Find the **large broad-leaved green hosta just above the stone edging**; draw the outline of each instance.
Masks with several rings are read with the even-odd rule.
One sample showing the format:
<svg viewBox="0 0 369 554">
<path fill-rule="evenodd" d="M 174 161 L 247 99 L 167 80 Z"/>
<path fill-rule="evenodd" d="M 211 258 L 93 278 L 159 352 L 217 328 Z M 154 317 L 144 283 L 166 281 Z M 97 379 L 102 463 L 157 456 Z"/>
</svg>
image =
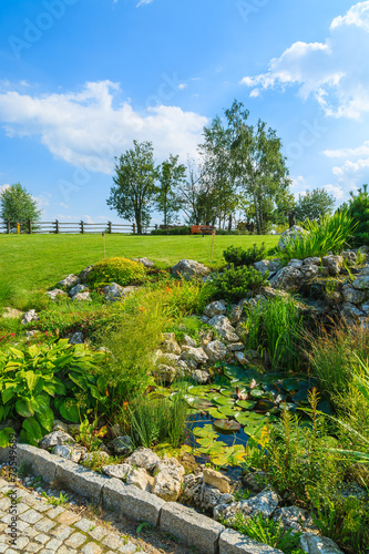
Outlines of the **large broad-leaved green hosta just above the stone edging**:
<svg viewBox="0 0 369 554">
<path fill-rule="evenodd" d="M 20 440 L 37 445 L 51 431 L 54 413 L 78 423 L 86 410 L 99 411 L 107 399 L 106 380 L 95 375 L 102 356 L 68 340 L 0 352 L 0 422 L 17 419 Z"/>
</svg>

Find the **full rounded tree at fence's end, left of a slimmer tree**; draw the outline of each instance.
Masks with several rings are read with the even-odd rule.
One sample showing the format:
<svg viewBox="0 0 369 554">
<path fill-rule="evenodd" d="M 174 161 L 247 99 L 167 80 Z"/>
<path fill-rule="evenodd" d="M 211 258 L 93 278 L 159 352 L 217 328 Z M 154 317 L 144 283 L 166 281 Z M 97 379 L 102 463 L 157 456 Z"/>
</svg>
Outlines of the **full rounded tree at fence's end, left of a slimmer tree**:
<svg viewBox="0 0 369 554">
<path fill-rule="evenodd" d="M 133 145 L 115 165 L 114 185 L 106 203 L 111 209 L 116 209 L 120 217 L 134 218 L 141 235 L 143 226 L 150 223 L 156 170 L 152 143 L 133 141 Z"/>
</svg>

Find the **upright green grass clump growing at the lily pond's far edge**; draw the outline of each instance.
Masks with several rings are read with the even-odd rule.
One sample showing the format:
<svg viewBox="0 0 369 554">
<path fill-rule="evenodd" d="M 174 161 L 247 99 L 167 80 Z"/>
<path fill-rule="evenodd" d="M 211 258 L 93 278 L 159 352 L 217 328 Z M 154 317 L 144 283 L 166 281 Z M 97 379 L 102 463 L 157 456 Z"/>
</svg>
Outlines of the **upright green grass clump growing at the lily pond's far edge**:
<svg viewBox="0 0 369 554">
<path fill-rule="evenodd" d="M 246 346 L 266 350 L 274 370 L 300 367 L 303 317 L 291 297 L 276 296 L 249 309 Z"/>
</svg>

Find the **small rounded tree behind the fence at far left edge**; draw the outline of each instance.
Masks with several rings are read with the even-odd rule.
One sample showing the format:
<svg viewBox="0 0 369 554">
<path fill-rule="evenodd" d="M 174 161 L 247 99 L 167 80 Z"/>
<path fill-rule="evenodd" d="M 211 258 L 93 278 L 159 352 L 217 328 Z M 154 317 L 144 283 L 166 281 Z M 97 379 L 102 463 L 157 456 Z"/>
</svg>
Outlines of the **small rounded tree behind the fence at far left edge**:
<svg viewBox="0 0 369 554">
<path fill-rule="evenodd" d="M 17 228 L 17 223 L 22 224 L 21 228 L 24 229 L 28 220 L 39 222 L 41 213 L 37 201 L 20 183 L 16 183 L 0 193 L 0 216 L 4 222 L 10 222 L 12 230 Z"/>
</svg>

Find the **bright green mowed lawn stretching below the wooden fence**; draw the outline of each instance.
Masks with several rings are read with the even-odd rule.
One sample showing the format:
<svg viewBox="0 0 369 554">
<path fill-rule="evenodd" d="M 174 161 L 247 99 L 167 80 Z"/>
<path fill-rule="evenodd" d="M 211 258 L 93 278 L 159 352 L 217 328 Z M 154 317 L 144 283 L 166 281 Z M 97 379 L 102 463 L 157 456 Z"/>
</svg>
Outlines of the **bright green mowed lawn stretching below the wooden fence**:
<svg viewBox="0 0 369 554">
<path fill-rule="evenodd" d="M 105 235 L 106 257 L 147 257 L 160 267 L 180 259 L 195 259 L 212 267 L 224 264 L 223 250 L 230 245 L 248 248 L 265 243 L 268 255 L 278 244 L 276 236 L 216 236 L 213 264 L 212 236 L 127 236 Z M 48 289 L 69 274 L 103 259 L 101 235 L 2 235 L 0 236 L 0 279 L 27 291 Z"/>
</svg>

